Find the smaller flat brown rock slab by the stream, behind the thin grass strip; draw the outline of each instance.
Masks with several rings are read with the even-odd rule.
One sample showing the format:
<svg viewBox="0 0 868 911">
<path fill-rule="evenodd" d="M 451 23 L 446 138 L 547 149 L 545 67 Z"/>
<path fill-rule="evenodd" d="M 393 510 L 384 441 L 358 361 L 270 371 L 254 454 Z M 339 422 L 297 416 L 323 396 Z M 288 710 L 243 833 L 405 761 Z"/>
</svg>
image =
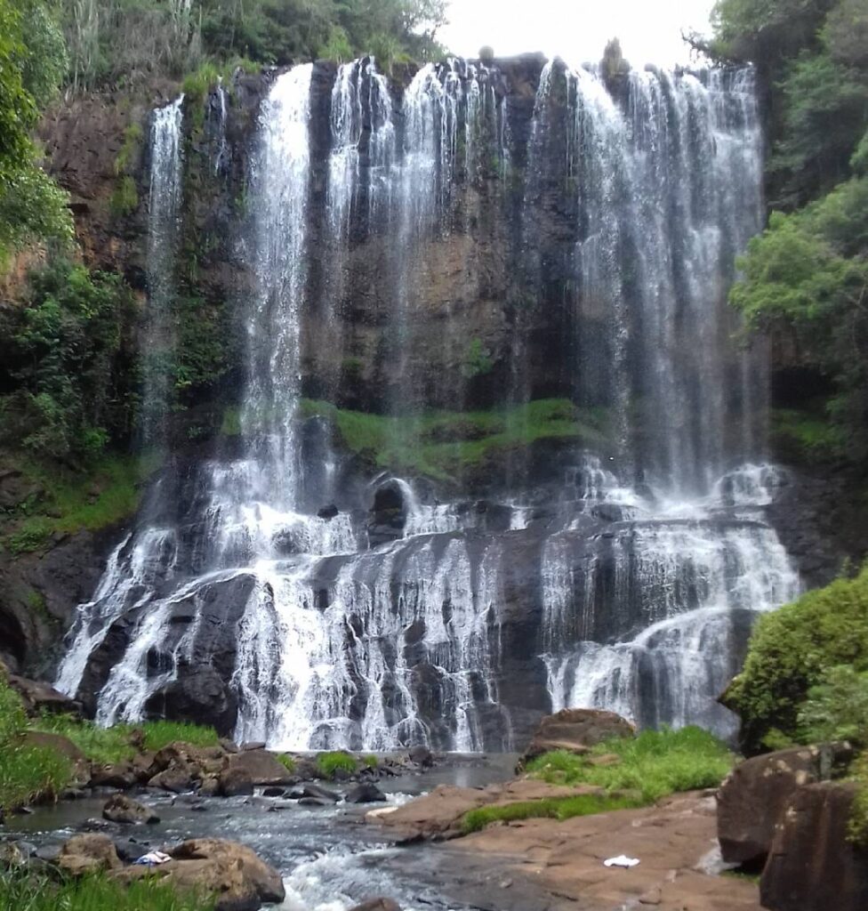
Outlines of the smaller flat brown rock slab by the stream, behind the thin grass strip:
<svg viewBox="0 0 868 911">
<path fill-rule="evenodd" d="M 505 784 L 492 784 L 486 788 L 460 788 L 453 784 L 439 784 L 431 793 L 404 804 L 394 813 L 378 816 L 369 814 L 368 818 L 372 822 L 397 830 L 399 839 L 405 841 L 441 841 L 462 834 L 461 820 L 464 815 L 481 806 L 521 804 L 529 800 L 575 797 L 577 794 L 600 792 L 600 788 L 587 785 L 567 787 L 526 778 Z"/>
</svg>

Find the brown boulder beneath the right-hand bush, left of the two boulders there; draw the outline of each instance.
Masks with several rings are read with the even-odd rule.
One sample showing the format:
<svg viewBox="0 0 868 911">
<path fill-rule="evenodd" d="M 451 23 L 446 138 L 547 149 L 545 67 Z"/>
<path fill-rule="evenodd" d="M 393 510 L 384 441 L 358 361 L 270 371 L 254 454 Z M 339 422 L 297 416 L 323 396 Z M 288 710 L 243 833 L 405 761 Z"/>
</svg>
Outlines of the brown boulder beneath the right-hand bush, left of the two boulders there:
<svg viewBox="0 0 868 911">
<path fill-rule="evenodd" d="M 718 793 L 723 859 L 730 864 L 761 864 L 795 790 L 831 778 L 851 755 L 845 744 L 823 744 L 770 752 L 737 765 Z"/>
</svg>

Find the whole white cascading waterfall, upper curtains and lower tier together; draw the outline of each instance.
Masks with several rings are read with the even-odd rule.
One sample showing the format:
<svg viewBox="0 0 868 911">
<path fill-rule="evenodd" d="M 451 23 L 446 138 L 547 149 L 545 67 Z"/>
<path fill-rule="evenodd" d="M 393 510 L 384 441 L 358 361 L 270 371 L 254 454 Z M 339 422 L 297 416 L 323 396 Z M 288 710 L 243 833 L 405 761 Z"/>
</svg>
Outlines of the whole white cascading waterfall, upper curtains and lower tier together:
<svg viewBox="0 0 868 911">
<path fill-rule="evenodd" d="M 160 478 L 163 502 L 182 506 L 143 514 L 117 547 L 58 686 L 95 694 L 100 722 L 195 716 L 284 748 L 506 750 L 541 711 L 579 705 L 731 732 L 714 700 L 751 618 L 798 590 L 765 521 L 786 477 L 758 458 L 762 353 L 728 347 L 731 263 L 761 213 L 750 71 L 647 70 L 611 87 L 547 65 L 525 105 L 526 148 L 521 99 L 507 104 L 496 65 L 429 65 L 403 94 L 371 57 L 343 65 L 319 134 L 314 72 L 274 79 L 250 153 L 240 437 L 190 476 Z M 156 151 L 164 121 L 179 169 L 180 103 L 155 116 L 152 219 L 178 207 L 179 178 L 161 170 L 168 138 Z M 319 159 L 314 134 L 329 138 Z M 383 397 L 393 414 L 413 410 L 415 298 L 450 238 L 482 230 L 468 193 L 518 213 L 523 289 L 543 287 L 546 226 L 567 212 L 572 394 L 608 412 L 615 442 L 583 440 L 563 476 L 499 498 L 439 500 L 388 472 L 343 483 L 335 452 L 311 455 L 300 416 L 313 301 L 313 343 L 343 353 L 354 258 L 387 246 L 372 277 L 389 285 Z M 162 224 L 155 270 L 170 252 Z M 452 302 L 441 315 L 437 343 L 465 346 Z M 508 394 L 522 402 L 517 335 L 510 354 Z M 316 515 L 326 503 L 341 508 Z"/>
</svg>

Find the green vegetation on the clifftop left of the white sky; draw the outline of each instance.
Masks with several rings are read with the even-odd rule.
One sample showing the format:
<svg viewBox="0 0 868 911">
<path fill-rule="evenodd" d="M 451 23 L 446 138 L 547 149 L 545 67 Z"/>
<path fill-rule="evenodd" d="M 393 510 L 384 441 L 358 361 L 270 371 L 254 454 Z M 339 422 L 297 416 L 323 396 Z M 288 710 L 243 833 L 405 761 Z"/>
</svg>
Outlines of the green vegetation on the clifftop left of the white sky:
<svg viewBox="0 0 868 911">
<path fill-rule="evenodd" d="M 375 54 L 381 66 L 442 54 L 445 0 L 80 0 L 62 6 L 72 86 L 125 85 L 196 72 L 191 97 L 239 62 L 285 65 Z"/>
</svg>

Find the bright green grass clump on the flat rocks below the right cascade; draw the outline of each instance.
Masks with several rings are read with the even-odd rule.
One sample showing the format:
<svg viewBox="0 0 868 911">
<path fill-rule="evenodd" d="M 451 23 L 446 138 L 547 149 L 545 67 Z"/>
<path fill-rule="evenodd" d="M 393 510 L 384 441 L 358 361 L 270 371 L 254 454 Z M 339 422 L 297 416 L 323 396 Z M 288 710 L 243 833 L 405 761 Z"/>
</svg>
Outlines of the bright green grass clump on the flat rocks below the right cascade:
<svg viewBox="0 0 868 911">
<path fill-rule="evenodd" d="M 611 765 L 594 765 L 592 757 L 618 756 Z M 635 791 L 653 804 L 677 791 L 716 787 L 730 772 L 735 757 L 723 742 L 697 727 L 679 731 L 643 731 L 637 737 L 598 744 L 587 755 L 558 750 L 527 764 L 536 778 L 557 784 L 596 784 L 608 792 Z"/>
</svg>

